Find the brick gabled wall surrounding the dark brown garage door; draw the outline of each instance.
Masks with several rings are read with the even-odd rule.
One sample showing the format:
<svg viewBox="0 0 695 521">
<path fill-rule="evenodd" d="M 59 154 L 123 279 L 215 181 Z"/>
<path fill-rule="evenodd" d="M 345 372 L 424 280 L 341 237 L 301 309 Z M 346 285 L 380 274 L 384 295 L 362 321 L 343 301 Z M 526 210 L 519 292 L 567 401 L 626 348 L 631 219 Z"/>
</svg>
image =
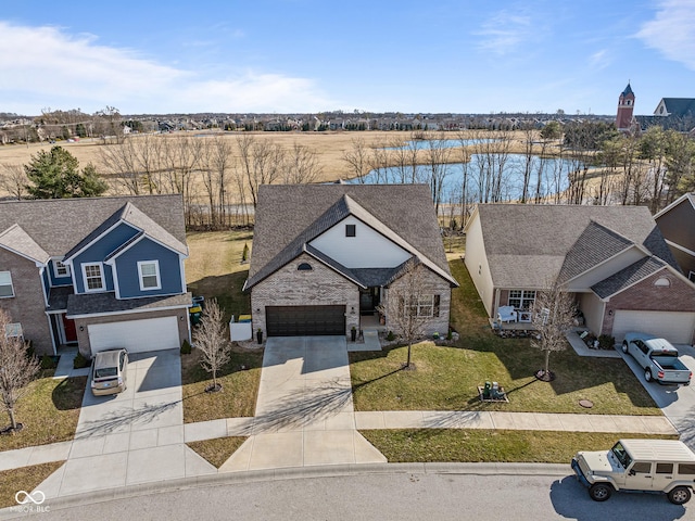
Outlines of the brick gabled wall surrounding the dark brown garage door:
<svg viewBox="0 0 695 521">
<path fill-rule="evenodd" d="M 296 267 L 308 263 L 312 270 L 300 271 Z M 344 305 L 345 334 L 359 327 L 359 290 L 354 282 L 332 269 L 302 254 L 251 290 L 251 314 L 253 331 L 261 329 L 267 335 L 266 306 L 324 306 Z M 354 307 L 355 313 L 350 313 Z"/>
</svg>

